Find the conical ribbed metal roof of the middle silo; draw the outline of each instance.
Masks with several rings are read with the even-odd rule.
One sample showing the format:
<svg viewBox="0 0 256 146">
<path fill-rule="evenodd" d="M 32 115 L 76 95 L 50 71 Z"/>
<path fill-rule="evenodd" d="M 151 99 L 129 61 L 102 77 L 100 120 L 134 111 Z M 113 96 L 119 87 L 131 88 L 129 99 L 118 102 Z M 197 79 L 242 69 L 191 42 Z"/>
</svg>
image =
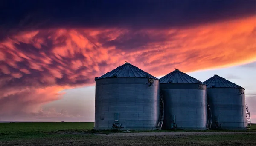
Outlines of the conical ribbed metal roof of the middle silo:
<svg viewBox="0 0 256 146">
<path fill-rule="evenodd" d="M 200 80 L 191 77 L 180 70 L 175 69 L 173 72 L 160 78 L 159 83 L 202 83 Z"/>
</svg>

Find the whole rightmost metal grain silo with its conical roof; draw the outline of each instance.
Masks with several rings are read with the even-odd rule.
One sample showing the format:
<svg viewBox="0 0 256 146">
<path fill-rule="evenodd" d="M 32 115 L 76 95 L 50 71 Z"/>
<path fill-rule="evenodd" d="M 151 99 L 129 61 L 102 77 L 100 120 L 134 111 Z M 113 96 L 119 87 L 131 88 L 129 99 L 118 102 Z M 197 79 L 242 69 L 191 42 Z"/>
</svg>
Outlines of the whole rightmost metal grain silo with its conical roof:
<svg viewBox="0 0 256 146">
<path fill-rule="evenodd" d="M 245 89 L 216 74 L 204 83 L 212 111 L 212 128 L 245 129 Z"/>
</svg>

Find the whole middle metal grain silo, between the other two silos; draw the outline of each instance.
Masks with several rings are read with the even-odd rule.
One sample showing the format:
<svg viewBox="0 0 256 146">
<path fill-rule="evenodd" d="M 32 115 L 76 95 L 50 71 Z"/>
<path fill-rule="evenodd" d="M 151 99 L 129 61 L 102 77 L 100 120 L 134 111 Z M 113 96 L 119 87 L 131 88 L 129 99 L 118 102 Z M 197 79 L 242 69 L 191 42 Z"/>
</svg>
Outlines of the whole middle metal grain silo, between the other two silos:
<svg viewBox="0 0 256 146">
<path fill-rule="evenodd" d="M 175 69 L 160 78 L 160 92 L 164 99 L 162 129 L 206 129 L 206 85 Z"/>
</svg>

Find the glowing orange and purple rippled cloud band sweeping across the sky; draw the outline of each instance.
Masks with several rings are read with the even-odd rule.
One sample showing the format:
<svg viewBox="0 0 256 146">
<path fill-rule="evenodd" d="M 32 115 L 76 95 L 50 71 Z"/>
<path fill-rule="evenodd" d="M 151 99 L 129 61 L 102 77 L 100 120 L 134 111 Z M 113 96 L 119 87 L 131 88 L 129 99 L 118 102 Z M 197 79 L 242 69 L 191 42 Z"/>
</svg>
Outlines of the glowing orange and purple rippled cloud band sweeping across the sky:
<svg viewBox="0 0 256 146">
<path fill-rule="evenodd" d="M 0 42 L 0 108 L 40 111 L 129 61 L 154 76 L 256 60 L 256 17 L 186 29 L 44 29 Z M 20 108 L 17 108 L 20 107 Z M 15 111 L 19 109 L 19 111 Z"/>
</svg>

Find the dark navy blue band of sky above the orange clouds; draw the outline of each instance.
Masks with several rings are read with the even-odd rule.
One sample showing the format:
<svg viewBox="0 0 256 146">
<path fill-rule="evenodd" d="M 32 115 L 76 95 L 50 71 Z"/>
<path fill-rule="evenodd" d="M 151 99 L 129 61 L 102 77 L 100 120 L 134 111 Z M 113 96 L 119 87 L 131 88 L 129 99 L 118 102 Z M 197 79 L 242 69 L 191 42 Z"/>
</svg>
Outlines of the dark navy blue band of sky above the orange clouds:
<svg viewBox="0 0 256 146">
<path fill-rule="evenodd" d="M 255 14 L 255 0 L 2 0 L 0 26 L 189 27 Z"/>
</svg>

